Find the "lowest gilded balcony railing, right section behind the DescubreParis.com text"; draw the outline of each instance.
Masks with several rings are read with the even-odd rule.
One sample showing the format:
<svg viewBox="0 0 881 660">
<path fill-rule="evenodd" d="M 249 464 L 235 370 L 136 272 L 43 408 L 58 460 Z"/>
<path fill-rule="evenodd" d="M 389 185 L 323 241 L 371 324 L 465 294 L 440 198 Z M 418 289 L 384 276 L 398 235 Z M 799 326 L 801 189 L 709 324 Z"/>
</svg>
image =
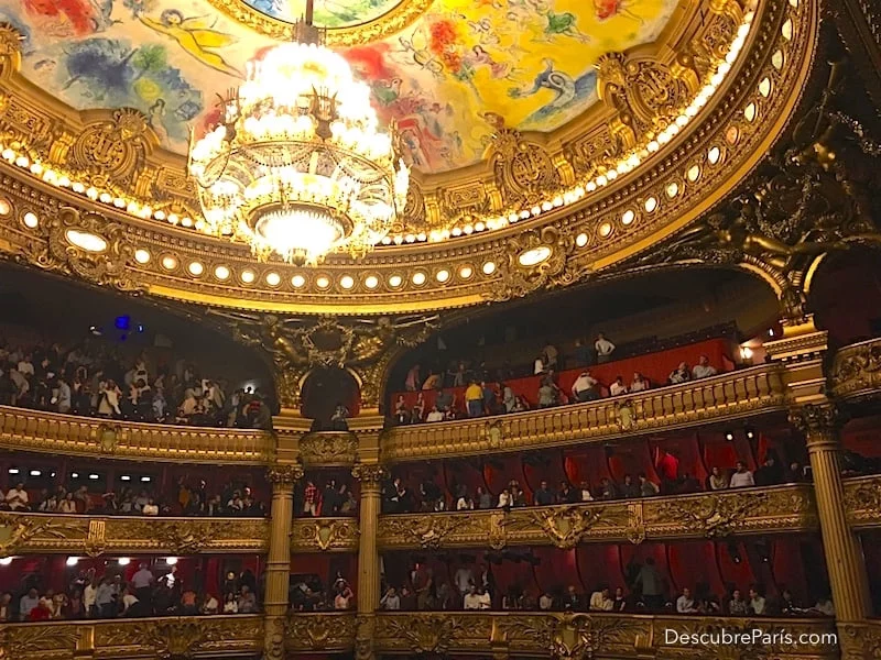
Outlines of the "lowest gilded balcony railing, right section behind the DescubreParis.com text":
<svg viewBox="0 0 881 660">
<path fill-rule="evenodd" d="M 705 634 L 766 634 L 747 644 Z M 674 636 L 675 632 L 675 636 Z M 776 632 L 776 638 L 771 638 Z M 751 637 L 752 638 L 752 637 Z M 829 619 L 544 613 L 380 613 L 373 635 L 387 653 L 481 653 L 493 658 L 838 658 Z M 703 641 L 701 641 L 703 640 Z M 722 653 L 729 648 L 730 653 Z M 867 656 L 868 657 L 868 656 Z"/>
</svg>

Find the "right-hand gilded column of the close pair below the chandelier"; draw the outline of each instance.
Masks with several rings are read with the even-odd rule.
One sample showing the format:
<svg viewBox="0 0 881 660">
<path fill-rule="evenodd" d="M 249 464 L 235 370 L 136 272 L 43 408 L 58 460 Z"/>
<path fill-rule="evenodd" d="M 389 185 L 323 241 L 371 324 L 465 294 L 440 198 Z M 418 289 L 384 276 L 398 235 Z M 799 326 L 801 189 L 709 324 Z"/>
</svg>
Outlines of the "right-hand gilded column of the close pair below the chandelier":
<svg viewBox="0 0 881 660">
<path fill-rule="evenodd" d="M 358 634 L 355 642 L 358 660 L 372 660 L 373 625 L 380 600 L 379 552 L 377 526 L 381 507 L 382 468 L 359 463 L 352 476 L 361 482 L 361 515 L 358 521 L 361 539 L 358 548 Z"/>
</svg>

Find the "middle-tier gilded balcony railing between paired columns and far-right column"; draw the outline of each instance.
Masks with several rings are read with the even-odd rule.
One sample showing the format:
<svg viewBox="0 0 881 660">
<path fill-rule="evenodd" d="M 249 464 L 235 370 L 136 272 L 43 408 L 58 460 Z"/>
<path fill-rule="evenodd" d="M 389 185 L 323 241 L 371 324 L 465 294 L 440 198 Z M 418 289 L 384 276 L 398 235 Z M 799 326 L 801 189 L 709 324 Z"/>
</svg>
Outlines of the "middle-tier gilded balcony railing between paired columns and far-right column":
<svg viewBox="0 0 881 660">
<path fill-rule="evenodd" d="M 881 516 L 880 516 L 881 517 Z M 377 542 L 387 550 L 632 542 L 721 538 L 738 534 L 813 531 L 807 484 L 438 514 L 381 516 Z"/>
</svg>

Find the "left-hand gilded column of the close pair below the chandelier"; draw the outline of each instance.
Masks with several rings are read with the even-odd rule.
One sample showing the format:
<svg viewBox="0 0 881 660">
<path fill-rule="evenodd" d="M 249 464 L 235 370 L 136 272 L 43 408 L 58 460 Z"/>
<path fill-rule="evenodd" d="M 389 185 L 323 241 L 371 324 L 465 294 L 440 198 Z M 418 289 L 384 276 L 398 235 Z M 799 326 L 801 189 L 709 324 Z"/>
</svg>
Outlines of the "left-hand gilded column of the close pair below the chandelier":
<svg viewBox="0 0 881 660">
<path fill-rule="evenodd" d="M 263 591 L 265 612 L 265 660 L 284 659 L 284 628 L 287 618 L 287 583 L 291 574 L 291 526 L 294 518 L 294 484 L 303 477 L 296 464 L 275 465 L 267 471 L 272 484 L 272 510 L 267 580 Z"/>
</svg>

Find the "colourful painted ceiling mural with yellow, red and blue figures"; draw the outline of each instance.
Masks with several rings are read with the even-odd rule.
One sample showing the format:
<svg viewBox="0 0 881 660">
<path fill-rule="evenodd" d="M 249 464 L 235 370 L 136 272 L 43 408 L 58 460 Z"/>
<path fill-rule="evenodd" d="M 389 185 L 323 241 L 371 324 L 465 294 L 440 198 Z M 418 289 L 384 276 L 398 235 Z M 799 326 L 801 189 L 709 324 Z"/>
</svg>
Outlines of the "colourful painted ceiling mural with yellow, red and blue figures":
<svg viewBox="0 0 881 660">
<path fill-rule="evenodd" d="M 247 1 L 280 18 L 305 6 Z M 316 22 L 361 23 L 401 1 L 317 0 Z M 537 131 L 581 113 L 596 101 L 597 58 L 653 41 L 677 2 L 436 0 L 398 34 L 344 55 L 380 118 L 398 121 L 410 162 L 442 172 L 482 157 L 485 113 Z M 78 109 L 137 108 L 180 153 L 189 128 L 216 117 L 217 95 L 273 43 L 209 0 L 0 0 L 0 20 L 24 35 L 22 69 L 33 82 Z"/>
</svg>

